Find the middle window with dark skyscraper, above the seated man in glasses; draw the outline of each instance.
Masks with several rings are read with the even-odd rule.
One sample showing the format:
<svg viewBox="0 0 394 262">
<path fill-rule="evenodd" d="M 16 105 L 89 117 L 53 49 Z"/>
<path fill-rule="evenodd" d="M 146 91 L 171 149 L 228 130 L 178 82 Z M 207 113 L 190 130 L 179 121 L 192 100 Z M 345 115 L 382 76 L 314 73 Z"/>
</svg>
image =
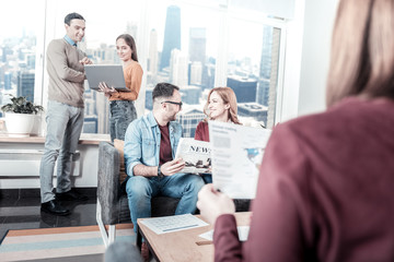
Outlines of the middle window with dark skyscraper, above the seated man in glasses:
<svg viewBox="0 0 394 262">
<path fill-rule="evenodd" d="M 208 90 L 215 86 L 219 17 L 213 7 L 152 1 L 149 23 L 146 108 L 159 82 L 179 86 L 184 103 L 177 120 L 185 136 L 194 136 Z"/>
</svg>

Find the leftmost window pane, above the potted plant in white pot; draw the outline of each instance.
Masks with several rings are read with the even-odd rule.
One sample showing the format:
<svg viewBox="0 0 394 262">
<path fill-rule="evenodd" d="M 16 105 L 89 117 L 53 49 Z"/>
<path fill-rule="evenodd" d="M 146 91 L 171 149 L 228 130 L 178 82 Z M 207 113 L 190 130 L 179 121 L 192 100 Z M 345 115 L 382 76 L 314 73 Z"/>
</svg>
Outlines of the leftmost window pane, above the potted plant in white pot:
<svg viewBox="0 0 394 262">
<path fill-rule="evenodd" d="M 34 97 L 35 92 L 36 97 L 40 95 L 40 79 L 37 84 L 36 74 L 42 71 L 36 70 L 36 63 L 42 61 L 36 61 L 40 59 L 36 50 L 43 40 L 44 1 L 14 0 L 2 5 L 5 10 L 0 15 L 0 106 L 10 103 L 9 95 L 40 104 Z"/>
</svg>

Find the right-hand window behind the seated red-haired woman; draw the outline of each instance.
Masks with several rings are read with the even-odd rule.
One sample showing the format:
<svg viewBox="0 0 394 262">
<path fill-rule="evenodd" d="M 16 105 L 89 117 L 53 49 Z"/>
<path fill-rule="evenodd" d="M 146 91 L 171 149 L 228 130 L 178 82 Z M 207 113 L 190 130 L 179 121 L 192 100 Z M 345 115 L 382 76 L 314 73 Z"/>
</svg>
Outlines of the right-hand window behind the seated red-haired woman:
<svg viewBox="0 0 394 262">
<path fill-rule="evenodd" d="M 241 121 L 273 128 L 281 29 L 245 19 L 230 20 L 230 28 L 227 85 L 235 92 Z"/>
</svg>

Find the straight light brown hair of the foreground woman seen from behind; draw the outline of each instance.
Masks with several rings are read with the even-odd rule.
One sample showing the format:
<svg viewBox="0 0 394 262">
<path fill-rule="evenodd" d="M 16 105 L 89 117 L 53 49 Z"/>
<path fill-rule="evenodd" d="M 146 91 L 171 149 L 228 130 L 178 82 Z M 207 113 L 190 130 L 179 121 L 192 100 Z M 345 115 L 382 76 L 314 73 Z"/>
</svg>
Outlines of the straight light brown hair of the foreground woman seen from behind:
<svg viewBox="0 0 394 262">
<path fill-rule="evenodd" d="M 352 95 L 394 98 L 394 1 L 340 0 L 327 106 Z"/>
</svg>

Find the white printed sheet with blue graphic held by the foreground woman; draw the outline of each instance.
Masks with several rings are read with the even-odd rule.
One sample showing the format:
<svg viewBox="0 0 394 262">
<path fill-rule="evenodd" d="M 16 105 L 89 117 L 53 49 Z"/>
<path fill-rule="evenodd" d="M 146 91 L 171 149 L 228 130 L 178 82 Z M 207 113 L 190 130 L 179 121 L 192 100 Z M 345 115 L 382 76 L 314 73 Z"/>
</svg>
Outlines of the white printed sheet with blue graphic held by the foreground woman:
<svg viewBox="0 0 394 262">
<path fill-rule="evenodd" d="M 271 131 L 219 121 L 208 124 L 215 188 L 232 199 L 254 199 Z"/>
</svg>

